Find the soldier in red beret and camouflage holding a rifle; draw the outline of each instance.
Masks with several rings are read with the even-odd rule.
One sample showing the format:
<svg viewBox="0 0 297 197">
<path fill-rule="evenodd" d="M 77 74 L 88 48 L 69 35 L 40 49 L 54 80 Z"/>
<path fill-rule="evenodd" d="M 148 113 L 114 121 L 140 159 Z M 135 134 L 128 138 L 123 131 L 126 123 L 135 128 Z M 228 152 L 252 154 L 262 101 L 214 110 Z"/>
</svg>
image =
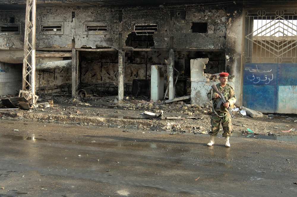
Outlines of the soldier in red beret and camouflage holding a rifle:
<svg viewBox="0 0 297 197">
<path fill-rule="evenodd" d="M 211 131 L 208 132 L 208 134 L 211 135 L 211 139 L 207 146 L 212 146 L 214 144 L 214 138 L 219 133 L 221 123 L 223 128 L 223 137 L 226 138 L 225 147 L 230 147 L 229 138 L 231 136 L 233 126 L 231 115 L 230 113 L 228 113 L 227 108 L 233 106 L 233 104 L 236 102 L 236 97 L 233 88 L 227 84 L 228 75 L 229 74 L 226 72 L 220 73 L 220 83 L 216 85 L 219 92 L 225 96 L 225 99 L 227 101 L 225 102 L 225 104 L 221 104 L 221 106 L 217 108 L 217 104 L 221 100 L 219 94 L 212 90 L 209 90 L 209 92 L 207 93 L 208 99 L 212 100 L 213 103 L 213 111 L 211 116 Z M 211 92 L 213 92 L 212 96 Z"/>
</svg>

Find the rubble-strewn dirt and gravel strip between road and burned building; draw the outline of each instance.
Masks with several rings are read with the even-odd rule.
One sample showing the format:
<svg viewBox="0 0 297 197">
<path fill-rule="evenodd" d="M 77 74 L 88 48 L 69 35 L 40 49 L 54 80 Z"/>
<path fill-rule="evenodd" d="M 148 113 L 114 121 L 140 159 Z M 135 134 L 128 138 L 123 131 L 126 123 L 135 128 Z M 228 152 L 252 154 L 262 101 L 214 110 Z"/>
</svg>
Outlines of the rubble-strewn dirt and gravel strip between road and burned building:
<svg viewBox="0 0 297 197">
<path fill-rule="evenodd" d="M 38 105 L 49 100 L 53 100 L 53 107 Z M 239 110 L 242 108 L 236 107 Z M 162 113 L 162 119 L 142 117 L 145 111 L 157 115 Z M 252 118 L 237 111 L 234 116 L 233 133 L 297 136 L 296 114 L 265 114 L 261 118 Z M 40 96 L 36 107 L 31 110 L 2 108 L 0 117 L 26 122 L 118 127 L 124 132 L 137 128 L 169 134 L 207 134 L 210 131 L 211 104 L 191 105 L 189 99 L 166 104 L 164 101 L 151 101 L 145 96 L 135 98 L 131 95 L 125 96 L 122 101 L 118 101 L 117 96 L 72 99 L 71 95 L 59 94 Z"/>
</svg>

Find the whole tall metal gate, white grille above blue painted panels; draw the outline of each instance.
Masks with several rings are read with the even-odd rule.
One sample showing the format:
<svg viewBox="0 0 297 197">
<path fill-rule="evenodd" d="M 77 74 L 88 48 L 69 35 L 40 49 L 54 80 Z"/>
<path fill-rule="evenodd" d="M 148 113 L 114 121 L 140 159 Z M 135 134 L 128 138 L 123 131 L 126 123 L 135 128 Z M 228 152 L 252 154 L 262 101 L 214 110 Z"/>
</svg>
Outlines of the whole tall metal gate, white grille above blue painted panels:
<svg viewBox="0 0 297 197">
<path fill-rule="evenodd" d="M 246 12 L 243 105 L 297 113 L 297 11 Z"/>
</svg>

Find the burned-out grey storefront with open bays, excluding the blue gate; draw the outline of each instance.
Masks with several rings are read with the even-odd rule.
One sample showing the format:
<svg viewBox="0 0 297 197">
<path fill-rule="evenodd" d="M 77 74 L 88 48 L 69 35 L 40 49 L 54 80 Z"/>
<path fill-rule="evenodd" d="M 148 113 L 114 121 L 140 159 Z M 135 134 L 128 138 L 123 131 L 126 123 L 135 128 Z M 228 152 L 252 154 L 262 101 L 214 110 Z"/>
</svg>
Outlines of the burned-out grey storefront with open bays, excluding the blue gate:
<svg viewBox="0 0 297 197">
<path fill-rule="evenodd" d="M 18 94 L 34 78 L 40 96 L 190 96 L 204 104 L 218 74 L 228 72 L 243 103 L 244 4 L 37 1 L 34 77 L 22 71 L 27 4 L 1 1 L 2 95 Z"/>
</svg>

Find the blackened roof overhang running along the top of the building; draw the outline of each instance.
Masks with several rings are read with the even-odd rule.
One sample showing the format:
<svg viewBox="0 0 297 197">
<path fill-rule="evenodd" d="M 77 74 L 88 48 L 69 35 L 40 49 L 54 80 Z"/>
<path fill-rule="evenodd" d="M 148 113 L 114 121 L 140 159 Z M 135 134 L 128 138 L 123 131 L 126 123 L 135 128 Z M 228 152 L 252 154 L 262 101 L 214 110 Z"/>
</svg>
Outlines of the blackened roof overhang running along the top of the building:
<svg viewBox="0 0 297 197">
<path fill-rule="evenodd" d="M 293 3 L 294 2 L 294 3 Z M 184 6 L 230 6 L 244 5 L 245 7 L 292 7 L 296 5 L 296 0 L 37 0 L 38 7 L 88 7 L 88 6 L 154 6 L 170 7 L 173 5 Z M 24 10 L 26 9 L 26 0 L 0 0 L 0 11 L 6 10 Z"/>
</svg>

